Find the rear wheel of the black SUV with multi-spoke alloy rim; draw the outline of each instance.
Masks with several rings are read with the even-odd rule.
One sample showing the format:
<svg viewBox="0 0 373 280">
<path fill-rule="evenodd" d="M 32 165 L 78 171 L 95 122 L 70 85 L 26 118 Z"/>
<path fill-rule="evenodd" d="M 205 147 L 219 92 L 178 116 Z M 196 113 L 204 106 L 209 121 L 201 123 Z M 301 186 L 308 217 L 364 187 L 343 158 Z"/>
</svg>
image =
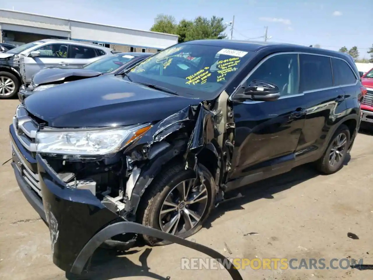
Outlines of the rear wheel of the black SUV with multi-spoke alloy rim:
<svg viewBox="0 0 373 280">
<path fill-rule="evenodd" d="M 350 146 L 350 130 L 342 124 L 334 133 L 324 155 L 317 162 L 317 169 L 324 174 L 338 171 L 347 155 Z"/>
</svg>

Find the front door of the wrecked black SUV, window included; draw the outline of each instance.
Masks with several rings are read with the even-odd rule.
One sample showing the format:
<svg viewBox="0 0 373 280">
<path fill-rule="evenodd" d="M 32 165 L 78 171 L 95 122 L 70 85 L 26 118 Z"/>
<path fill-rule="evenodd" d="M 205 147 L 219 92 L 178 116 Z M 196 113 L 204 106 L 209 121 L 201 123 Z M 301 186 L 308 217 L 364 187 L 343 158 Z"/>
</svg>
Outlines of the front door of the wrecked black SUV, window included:
<svg viewBox="0 0 373 280">
<path fill-rule="evenodd" d="M 304 95 L 299 94 L 298 54 L 279 53 L 260 62 L 247 81 L 279 87 L 276 101 L 238 102 L 232 96 L 235 144 L 228 188 L 289 171 L 305 121 Z M 237 91 L 238 93 L 238 91 Z"/>
</svg>

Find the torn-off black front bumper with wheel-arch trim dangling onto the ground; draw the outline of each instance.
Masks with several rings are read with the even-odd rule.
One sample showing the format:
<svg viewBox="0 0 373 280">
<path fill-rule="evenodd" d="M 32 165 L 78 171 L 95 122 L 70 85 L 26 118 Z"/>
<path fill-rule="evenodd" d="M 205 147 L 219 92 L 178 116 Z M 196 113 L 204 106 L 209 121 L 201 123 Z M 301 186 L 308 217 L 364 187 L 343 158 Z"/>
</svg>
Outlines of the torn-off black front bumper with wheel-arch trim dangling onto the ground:
<svg viewBox="0 0 373 280">
<path fill-rule="evenodd" d="M 225 267 L 233 280 L 242 280 L 238 270 L 219 252 L 154 228 L 125 221 L 106 208 L 89 190 L 68 187 L 40 155 L 35 158 L 29 156 L 12 133 L 11 127 L 12 167 L 16 180 L 28 202 L 48 224 L 53 262 L 57 267 L 68 273 L 81 274 L 87 270 L 94 251 L 106 240 L 118 234 L 137 233 L 178 243 L 209 255 Z M 26 181 L 23 175 L 25 165 L 33 171 L 37 169 L 43 200 Z"/>
</svg>

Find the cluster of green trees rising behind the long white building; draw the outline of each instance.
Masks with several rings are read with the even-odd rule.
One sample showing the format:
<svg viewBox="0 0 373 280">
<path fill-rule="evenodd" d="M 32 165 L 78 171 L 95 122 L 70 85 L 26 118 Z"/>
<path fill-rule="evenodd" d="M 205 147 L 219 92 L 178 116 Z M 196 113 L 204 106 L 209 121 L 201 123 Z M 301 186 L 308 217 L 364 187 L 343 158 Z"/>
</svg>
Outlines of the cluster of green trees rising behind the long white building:
<svg viewBox="0 0 373 280">
<path fill-rule="evenodd" d="M 179 35 L 179 43 L 198 39 L 224 39 L 225 25 L 223 18 L 213 16 L 211 19 L 198 16 L 194 21 L 182 19 L 176 22 L 173 16 L 157 15 L 150 31 Z"/>
</svg>

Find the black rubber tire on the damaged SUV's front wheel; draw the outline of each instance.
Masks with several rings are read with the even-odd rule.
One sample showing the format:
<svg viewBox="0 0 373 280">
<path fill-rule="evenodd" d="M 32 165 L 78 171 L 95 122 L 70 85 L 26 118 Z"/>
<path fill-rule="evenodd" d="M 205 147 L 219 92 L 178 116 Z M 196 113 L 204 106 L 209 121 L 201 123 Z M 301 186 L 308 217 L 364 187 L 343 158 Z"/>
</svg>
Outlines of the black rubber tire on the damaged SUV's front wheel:
<svg viewBox="0 0 373 280">
<path fill-rule="evenodd" d="M 204 184 L 202 186 L 201 184 L 197 184 L 197 185 L 199 188 L 206 188 L 204 192 L 201 192 L 203 193 L 203 195 L 199 196 L 199 197 L 204 197 L 205 196 L 204 193 L 207 194 L 206 206 L 204 207 L 203 213 L 199 216 L 200 217 L 199 221 L 194 220 L 193 218 L 189 218 L 189 221 L 193 219 L 195 221 L 195 224 L 188 231 L 182 232 L 183 230 L 181 230 L 181 232 L 178 232 L 178 230 L 176 230 L 175 233 L 173 233 L 172 230 L 169 231 L 169 233 L 176 234 L 177 236 L 182 237 L 182 238 L 186 238 L 197 233 L 197 231 L 199 231 L 202 228 L 202 225 L 204 221 L 206 221 L 206 218 L 209 217 L 210 211 L 211 209 L 213 209 L 213 206 L 214 206 L 216 192 L 215 192 L 215 187 L 214 187 L 215 182 L 214 182 L 213 176 L 211 175 L 210 171 L 202 165 L 200 165 L 200 170 L 203 173 Z M 182 181 L 185 181 L 185 180 L 192 181 L 195 178 L 196 178 L 195 172 L 190 169 L 185 169 L 184 165 L 182 164 L 172 165 L 172 166 L 165 168 L 160 173 L 160 175 L 154 179 L 154 181 L 150 184 L 150 186 L 145 191 L 143 197 L 141 198 L 140 205 L 137 210 L 138 223 L 143 224 L 148 227 L 156 228 L 158 230 L 162 230 L 161 223 L 163 224 L 163 221 L 160 220 L 160 211 L 161 209 L 164 210 L 164 207 L 167 206 L 167 205 L 163 206 L 163 202 L 166 200 L 166 198 L 169 199 L 169 197 L 172 197 L 172 195 L 174 195 L 175 193 L 179 193 L 176 187 L 179 186 L 179 184 Z M 188 181 L 186 181 L 186 185 L 187 183 Z M 189 195 L 196 194 L 196 193 L 193 192 L 192 185 L 191 185 Z M 185 201 L 187 201 L 187 199 Z M 204 200 L 202 200 L 202 202 L 204 203 Z M 175 203 L 177 204 L 177 200 Z M 179 213 L 182 218 L 180 218 L 180 221 L 178 221 L 178 225 L 181 226 L 182 223 L 185 221 L 184 217 L 186 213 L 190 213 L 189 210 L 192 210 L 192 206 L 194 207 L 198 205 L 198 207 L 200 207 L 199 203 L 201 204 L 201 202 L 197 202 L 196 204 L 193 204 L 193 205 L 191 204 L 185 205 L 183 208 L 184 209 L 183 211 L 183 210 L 180 210 L 180 207 L 182 207 L 181 206 L 182 201 L 181 201 L 178 205 L 179 207 L 177 208 L 177 210 L 170 212 L 170 214 L 169 213 L 165 214 L 164 219 L 166 219 L 167 216 L 177 215 L 177 213 Z M 167 207 L 170 207 L 170 206 L 167 206 Z M 186 209 L 188 207 L 189 209 Z M 202 207 L 200 207 L 199 209 L 201 208 Z M 197 212 L 191 212 L 191 213 L 196 214 Z M 164 228 L 166 227 L 166 224 L 167 223 L 164 224 Z M 164 230 L 164 228 L 162 231 L 166 231 Z M 171 243 L 171 242 L 163 241 L 161 239 L 157 239 L 157 238 L 147 236 L 147 235 L 142 235 L 142 239 L 144 239 L 144 241 L 148 243 L 148 245 L 150 246 L 166 245 L 166 244 Z"/>
</svg>

